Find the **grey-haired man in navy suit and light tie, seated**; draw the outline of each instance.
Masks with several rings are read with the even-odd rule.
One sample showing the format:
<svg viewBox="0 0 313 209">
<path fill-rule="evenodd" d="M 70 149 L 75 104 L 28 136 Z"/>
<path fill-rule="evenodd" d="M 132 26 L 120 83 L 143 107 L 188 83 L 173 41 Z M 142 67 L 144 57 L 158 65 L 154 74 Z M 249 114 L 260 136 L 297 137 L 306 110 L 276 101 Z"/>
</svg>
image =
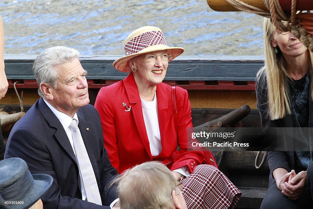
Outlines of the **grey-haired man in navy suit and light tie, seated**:
<svg viewBox="0 0 313 209">
<path fill-rule="evenodd" d="M 33 72 L 41 98 L 8 138 L 5 158 L 22 158 L 32 174 L 53 177 L 44 208 L 110 208 L 118 201 L 115 186 L 108 186 L 117 171 L 103 147 L 98 112 L 88 104 L 78 56 L 64 46 L 38 55 Z"/>
</svg>

